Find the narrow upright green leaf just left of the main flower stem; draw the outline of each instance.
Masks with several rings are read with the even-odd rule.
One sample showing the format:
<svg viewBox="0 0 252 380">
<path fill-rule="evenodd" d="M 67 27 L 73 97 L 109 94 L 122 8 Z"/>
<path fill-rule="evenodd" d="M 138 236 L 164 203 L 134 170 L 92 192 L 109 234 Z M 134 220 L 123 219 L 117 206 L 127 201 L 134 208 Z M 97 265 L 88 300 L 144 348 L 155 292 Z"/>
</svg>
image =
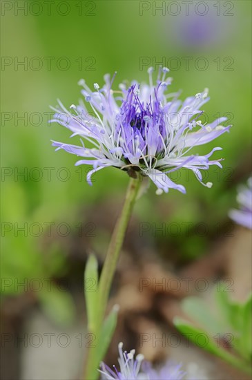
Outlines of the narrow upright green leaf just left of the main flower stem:
<svg viewBox="0 0 252 380">
<path fill-rule="evenodd" d="M 98 316 L 98 263 L 93 254 L 88 258 L 84 272 L 84 292 L 86 297 L 86 310 L 88 316 L 88 331 L 95 332 Z"/>
</svg>

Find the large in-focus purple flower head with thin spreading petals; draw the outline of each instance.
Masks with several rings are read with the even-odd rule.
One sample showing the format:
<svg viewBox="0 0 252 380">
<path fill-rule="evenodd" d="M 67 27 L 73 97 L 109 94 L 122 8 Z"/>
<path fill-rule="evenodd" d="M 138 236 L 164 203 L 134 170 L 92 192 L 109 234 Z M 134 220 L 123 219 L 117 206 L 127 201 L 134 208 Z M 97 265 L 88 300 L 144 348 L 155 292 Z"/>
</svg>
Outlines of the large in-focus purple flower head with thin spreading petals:
<svg viewBox="0 0 252 380">
<path fill-rule="evenodd" d="M 105 75 L 105 85 L 101 89 L 95 83 L 94 92 L 81 79 L 81 93 L 92 108 L 93 117 L 84 102 L 79 106 L 72 104 L 72 112 L 61 102 L 59 109 L 52 108 L 56 112 L 52 122 L 67 126 L 72 136 L 79 135 L 93 145 L 88 148 L 82 140 L 81 146 L 52 143 L 57 149 L 81 157 L 76 165 L 93 165 L 87 175 L 89 184 L 92 184 L 91 176 L 95 171 L 117 167 L 133 178 L 137 177 L 137 172 L 151 178 L 157 186 L 157 194 L 167 193 L 170 188 L 185 193 L 182 184 L 168 178 L 169 173 L 184 167 L 192 170 L 204 184 L 201 169 L 207 170 L 210 165 L 222 167 L 220 160 L 209 160 L 220 147 L 205 155 L 192 155 L 190 151 L 229 131 L 229 126 L 220 125 L 226 117 L 202 124 L 200 115 L 203 111 L 200 108 L 209 100 L 207 89 L 181 102 L 177 99 L 179 93 L 165 94 L 171 84 L 166 73 L 168 68 L 159 68 L 156 84 L 153 84 L 153 68 L 149 68 L 148 85 L 133 82 L 126 88 L 120 84 L 119 91 L 111 88 L 115 75 L 112 80 Z M 207 182 L 204 185 L 211 187 L 212 184 Z"/>
</svg>

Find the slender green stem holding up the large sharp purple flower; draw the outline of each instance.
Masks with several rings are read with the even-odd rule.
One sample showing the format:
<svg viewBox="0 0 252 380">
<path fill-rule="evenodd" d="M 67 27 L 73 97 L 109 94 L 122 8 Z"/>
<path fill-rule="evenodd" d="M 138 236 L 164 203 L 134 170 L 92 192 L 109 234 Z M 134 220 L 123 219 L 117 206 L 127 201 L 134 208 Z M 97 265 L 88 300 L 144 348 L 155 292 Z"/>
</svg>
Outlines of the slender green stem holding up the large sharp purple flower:
<svg viewBox="0 0 252 380">
<path fill-rule="evenodd" d="M 133 211 L 133 207 L 135 205 L 135 200 L 139 191 L 140 184 L 141 182 L 139 178 L 137 178 L 137 180 L 133 178 L 130 179 L 124 206 L 119 218 L 117 219 L 117 223 L 110 240 L 110 245 L 108 246 L 108 252 L 106 254 L 104 266 L 101 271 L 98 287 L 98 313 L 97 319 L 95 321 L 94 331 L 92 332 L 95 334 L 97 346 L 99 346 L 99 344 L 102 344 L 102 342 L 99 342 L 99 336 L 101 334 L 101 326 L 104 321 L 110 287 L 113 281 L 119 253 L 124 242 L 124 236 L 128 227 L 131 213 Z M 97 368 L 99 367 L 99 361 L 97 362 L 96 352 L 97 350 L 95 348 L 91 348 L 87 352 L 84 379 L 97 379 L 99 376 L 99 372 L 97 371 Z M 94 374 L 96 374 L 96 376 Z"/>
</svg>

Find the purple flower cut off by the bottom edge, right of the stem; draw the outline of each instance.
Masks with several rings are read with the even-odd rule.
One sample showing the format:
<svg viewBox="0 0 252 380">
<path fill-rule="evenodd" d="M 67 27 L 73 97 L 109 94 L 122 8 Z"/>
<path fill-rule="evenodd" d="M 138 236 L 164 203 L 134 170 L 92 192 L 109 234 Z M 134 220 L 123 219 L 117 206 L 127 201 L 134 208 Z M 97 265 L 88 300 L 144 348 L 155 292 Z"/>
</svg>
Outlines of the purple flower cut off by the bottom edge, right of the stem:
<svg viewBox="0 0 252 380">
<path fill-rule="evenodd" d="M 103 380 L 181 380 L 184 372 L 180 370 L 181 364 L 166 363 L 160 370 L 154 370 L 151 364 L 144 361 L 142 354 L 135 357 L 135 350 L 126 352 L 122 350 L 123 343 L 119 343 L 119 371 L 113 366 L 111 370 L 108 365 L 101 363 L 101 379 Z"/>
</svg>

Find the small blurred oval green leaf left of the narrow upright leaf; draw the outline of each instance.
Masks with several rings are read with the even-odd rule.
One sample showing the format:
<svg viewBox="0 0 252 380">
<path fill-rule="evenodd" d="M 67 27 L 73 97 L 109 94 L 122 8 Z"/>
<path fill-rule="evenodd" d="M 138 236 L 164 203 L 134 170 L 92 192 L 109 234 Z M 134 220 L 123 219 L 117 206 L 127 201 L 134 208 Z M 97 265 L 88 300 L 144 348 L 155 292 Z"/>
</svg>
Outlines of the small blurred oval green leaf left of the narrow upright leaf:
<svg viewBox="0 0 252 380">
<path fill-rule="evenodd" d="M 43 292 L 38 292 L 40 305 L 45 314 L 57 325 L 70 325 L 75 320 L 75 304 L 68 292 L 59 292 L 57 287 L 45 283 Z"/>
</svg>

